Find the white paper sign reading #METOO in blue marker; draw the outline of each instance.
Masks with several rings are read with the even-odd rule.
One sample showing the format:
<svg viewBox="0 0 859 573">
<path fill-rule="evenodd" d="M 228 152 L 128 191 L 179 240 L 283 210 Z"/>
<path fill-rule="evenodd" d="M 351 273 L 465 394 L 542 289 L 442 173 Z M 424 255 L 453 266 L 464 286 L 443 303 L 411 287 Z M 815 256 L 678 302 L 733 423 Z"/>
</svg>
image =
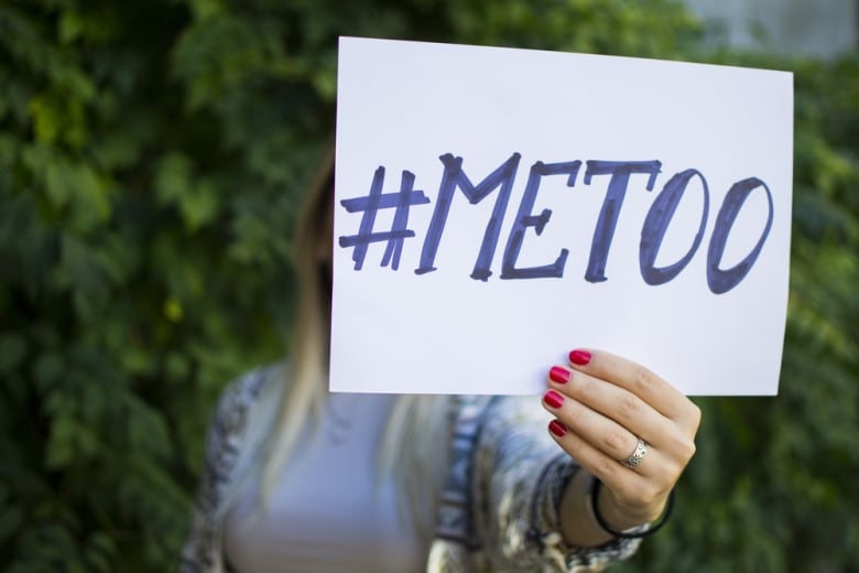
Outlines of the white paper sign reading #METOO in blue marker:
<svg viewBox="0 0 859 573">
<path fill-rule="evenodd" d="M 344 37 L 330 389 L 539 393 L 576 347 L 774 394 L 790 73 Z"/>
</svg>

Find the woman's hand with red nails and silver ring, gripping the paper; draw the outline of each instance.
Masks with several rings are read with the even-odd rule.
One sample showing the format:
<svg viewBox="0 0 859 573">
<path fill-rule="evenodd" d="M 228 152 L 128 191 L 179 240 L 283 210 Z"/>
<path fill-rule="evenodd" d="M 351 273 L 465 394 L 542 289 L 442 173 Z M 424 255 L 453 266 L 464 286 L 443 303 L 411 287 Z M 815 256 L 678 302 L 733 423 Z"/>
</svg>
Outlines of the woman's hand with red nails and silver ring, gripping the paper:
<svg viewBox="0 0 859 573">
<path fill-rule="evenodd" d="M 695 453 L 698 407 L 643 366 L 594 349 L 569 353 L 568 367 L 550 370 L 548 386 L 543 406 L 556 418 L 550 432 L 602 482 L 598 510 L 606 521 L 623 530 L 655 520 Z M 643 457 L 639 440 L 646 446 Z M 635 457 L 637 465 L 624 463 Z M 605 542 L 605 531 L 585 511 L 586 477 L 564 494 L 562 527 L 572 542 Z"/>
</svg>

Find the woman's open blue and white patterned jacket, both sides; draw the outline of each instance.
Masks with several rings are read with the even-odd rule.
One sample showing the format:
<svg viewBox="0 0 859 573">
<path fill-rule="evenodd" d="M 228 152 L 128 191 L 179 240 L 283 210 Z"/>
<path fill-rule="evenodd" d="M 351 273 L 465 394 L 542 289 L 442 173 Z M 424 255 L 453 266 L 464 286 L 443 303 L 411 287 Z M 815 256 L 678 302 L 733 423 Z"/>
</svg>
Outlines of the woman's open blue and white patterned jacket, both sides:
<svg viewBox="0 0 859 573">
<path fill-rule="evenodd" d="M 276 368 L 246 374 L 218 402 L 183 573 L 232 571 L 224 556 L 224 509 L 274 415 L 283 387 L 272 383 Z M 638 540 L 599 548 L 564 541 L 557 507 L 578 466 L 548 437 L 533 398 L 455 397 L 449 420 L 450 462 L 427 572 L 590 572 L 634 553 Z"/>
</svg>

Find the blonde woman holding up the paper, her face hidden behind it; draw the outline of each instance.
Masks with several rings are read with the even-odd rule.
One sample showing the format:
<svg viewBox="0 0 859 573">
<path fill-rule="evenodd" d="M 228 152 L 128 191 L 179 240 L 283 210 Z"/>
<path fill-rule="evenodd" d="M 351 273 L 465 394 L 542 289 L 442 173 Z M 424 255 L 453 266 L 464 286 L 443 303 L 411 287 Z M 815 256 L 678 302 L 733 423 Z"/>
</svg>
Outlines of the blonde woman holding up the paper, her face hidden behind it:
<svg viewBox="0 0 859 573">
<path fill-rule="evenodd" d="M 542 398 L 328 393 L 331 172 L 329 156 L 300 220 L 291 360 L 221 397 L 183 571 L 596 571 L 632 554 L 670 512 L 697 407 L 590 348 L 547 365 Z"/>
</svg>

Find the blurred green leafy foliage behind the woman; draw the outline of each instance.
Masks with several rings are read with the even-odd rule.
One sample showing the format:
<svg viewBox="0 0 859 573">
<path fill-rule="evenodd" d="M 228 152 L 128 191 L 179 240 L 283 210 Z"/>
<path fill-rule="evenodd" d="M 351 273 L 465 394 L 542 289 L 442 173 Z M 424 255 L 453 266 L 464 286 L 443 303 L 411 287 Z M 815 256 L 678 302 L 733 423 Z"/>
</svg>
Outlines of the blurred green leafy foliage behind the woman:
<svg viewBox="0 0 859 573">
<path fill-rule="evenodd" d="M 796 73 L 781 393 L 698 400 L 676 516 L 618 569 L 856 571 L 859 58 L 704 53 L 668 0 L 0 1 L 2 569 L 176 567 L 218 391 L 287 346 L 339 34 Z"/>
</svg>

